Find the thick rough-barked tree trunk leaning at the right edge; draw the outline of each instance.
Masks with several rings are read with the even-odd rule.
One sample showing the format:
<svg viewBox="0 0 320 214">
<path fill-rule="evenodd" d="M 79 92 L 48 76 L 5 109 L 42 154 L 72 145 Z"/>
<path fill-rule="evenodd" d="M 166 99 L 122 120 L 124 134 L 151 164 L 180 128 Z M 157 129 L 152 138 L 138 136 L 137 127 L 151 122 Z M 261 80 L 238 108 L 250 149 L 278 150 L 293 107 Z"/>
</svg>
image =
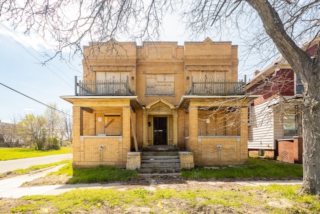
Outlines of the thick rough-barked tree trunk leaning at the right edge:
<svg viewBox="0 0 320 214">
<path fill-rule="evenodd" d="M 258 13 L 265 32 L 304 86 L 302 109 L 303 181 L 300 193 L 320 195 L 320 65 L 286 34 L 275 9 L 266 0 L 245 0 Z"/>
</svg>

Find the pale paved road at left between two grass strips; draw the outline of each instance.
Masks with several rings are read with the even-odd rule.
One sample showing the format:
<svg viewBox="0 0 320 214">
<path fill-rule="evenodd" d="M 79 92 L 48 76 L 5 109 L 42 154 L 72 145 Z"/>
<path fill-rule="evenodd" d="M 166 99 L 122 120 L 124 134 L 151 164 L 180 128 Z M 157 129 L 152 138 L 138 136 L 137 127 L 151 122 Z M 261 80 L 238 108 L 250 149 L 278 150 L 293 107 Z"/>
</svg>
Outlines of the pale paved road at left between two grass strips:
<svg viewBox="0 0 320 214">
<path fill-rule="evenodd" d="M 15 169 L 25 169 L 33 165 L 42 165 L 72 159 L 72 154 L 56 154 L 42 157 L 30 157 L 15 160 L 0 161 L 0 173 L 12 171 Z"/>
</svg>

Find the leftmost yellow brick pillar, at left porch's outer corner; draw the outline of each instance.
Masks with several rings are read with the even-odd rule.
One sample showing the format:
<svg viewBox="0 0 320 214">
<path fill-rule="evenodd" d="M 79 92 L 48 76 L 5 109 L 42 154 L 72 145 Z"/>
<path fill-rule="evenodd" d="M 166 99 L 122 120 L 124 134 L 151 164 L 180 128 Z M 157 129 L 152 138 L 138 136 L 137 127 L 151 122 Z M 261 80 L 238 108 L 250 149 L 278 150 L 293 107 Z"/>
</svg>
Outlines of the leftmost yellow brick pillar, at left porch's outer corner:
<svg viewBox="0 0 320 214">
<path fill-rule="evenodd" d="M 72 149 L 73 149 L 73 162 L 80 161 L 80 136 L 83 133 L 83 110 L 79 106 L 72 107 Z M 82 154 L 83 155 L 83 154 Z"/>
</svg>

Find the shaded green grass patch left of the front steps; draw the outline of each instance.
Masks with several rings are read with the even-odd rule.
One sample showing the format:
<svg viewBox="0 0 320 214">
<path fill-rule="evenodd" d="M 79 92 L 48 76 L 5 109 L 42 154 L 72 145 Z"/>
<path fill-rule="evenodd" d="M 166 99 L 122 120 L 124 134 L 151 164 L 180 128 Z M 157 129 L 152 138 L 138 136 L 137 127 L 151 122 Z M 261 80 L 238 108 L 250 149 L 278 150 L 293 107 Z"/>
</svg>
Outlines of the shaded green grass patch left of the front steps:
<svg viewBox="0 0 320 214">
<path fill-rule="evenodd" d="M 93 168 L 74 168 L 73 177 L 68 183 L 98 183 L 117 180 L 129 180 L 138 176 L 137 170 L 125 170 L 115 167 L 98 166 Z"/>
</svg>

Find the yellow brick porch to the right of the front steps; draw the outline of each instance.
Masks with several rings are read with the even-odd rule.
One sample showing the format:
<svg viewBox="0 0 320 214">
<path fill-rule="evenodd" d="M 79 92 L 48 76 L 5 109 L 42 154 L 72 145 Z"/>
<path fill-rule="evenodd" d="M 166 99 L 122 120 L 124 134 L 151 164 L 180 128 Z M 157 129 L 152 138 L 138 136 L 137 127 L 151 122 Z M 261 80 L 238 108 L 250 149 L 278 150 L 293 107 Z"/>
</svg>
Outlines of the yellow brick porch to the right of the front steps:
<svg viewBox="0 0 320 214">
<path fill-rule="evenodd" d="M 241 95 L 182 97 L 184 146 L 195 166 L 247 162 L 247 100 Z"/>
</svg>

